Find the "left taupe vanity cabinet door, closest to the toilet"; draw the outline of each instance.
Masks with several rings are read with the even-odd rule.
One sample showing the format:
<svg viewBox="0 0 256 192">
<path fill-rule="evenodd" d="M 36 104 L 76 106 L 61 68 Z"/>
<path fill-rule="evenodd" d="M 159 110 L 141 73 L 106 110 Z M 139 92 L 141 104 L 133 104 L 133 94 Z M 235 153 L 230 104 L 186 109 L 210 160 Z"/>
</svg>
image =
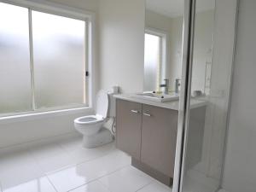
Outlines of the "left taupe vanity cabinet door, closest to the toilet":
<svg viewBox="0 0 256 192">
<path fill-rule="evenodd" d="M 127 154 L 140 160 L 142 136 L 142 104 L 117 100 L 116 145 Z"/>
</svg>

